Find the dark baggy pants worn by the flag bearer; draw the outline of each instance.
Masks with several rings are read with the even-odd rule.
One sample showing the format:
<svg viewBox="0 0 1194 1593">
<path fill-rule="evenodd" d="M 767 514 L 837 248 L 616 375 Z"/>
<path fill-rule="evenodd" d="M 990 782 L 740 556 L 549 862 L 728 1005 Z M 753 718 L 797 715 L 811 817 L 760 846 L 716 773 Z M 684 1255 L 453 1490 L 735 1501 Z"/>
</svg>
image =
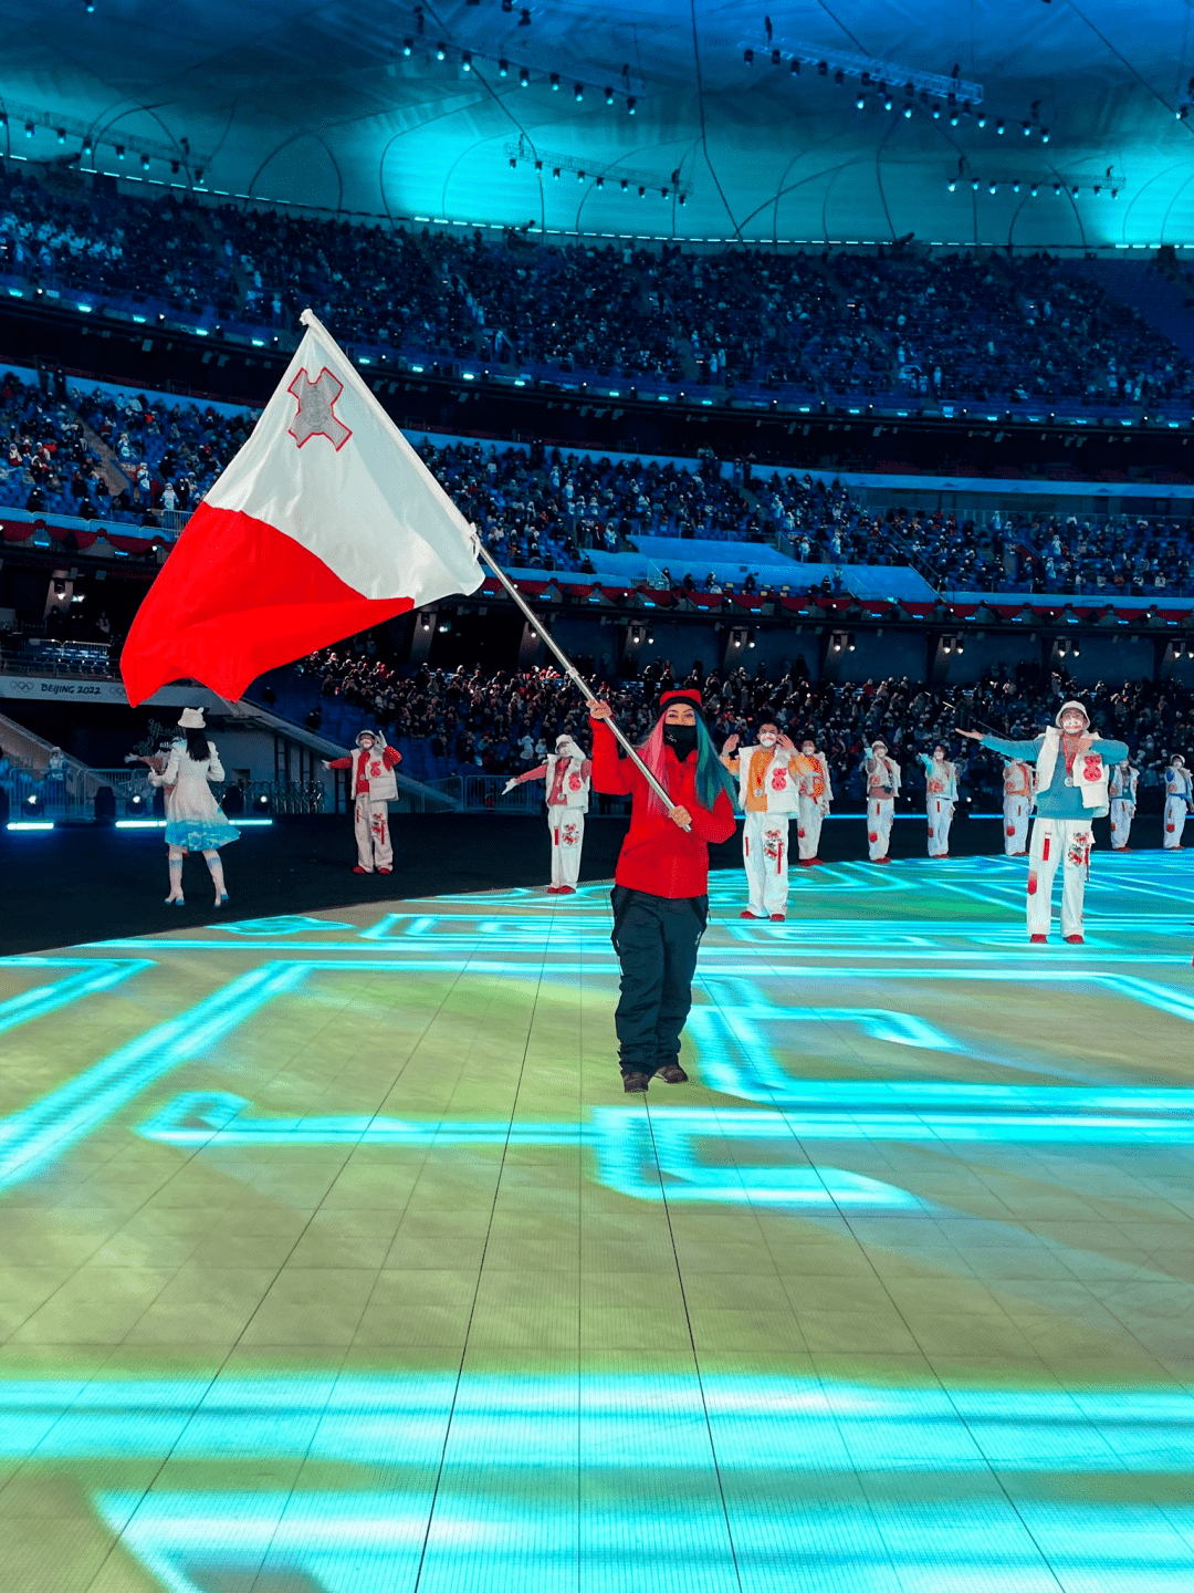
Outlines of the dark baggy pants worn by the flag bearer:
<svg viewBox="0 0 1194 1593">
<path fill-rule="evenodd" d="M 615 886 L 613 949 L 622 965 L 615 1013 L 624 1074 L 653 1074 L 680 1055 L 708 897 L 648 895 Z"/>
</svg>

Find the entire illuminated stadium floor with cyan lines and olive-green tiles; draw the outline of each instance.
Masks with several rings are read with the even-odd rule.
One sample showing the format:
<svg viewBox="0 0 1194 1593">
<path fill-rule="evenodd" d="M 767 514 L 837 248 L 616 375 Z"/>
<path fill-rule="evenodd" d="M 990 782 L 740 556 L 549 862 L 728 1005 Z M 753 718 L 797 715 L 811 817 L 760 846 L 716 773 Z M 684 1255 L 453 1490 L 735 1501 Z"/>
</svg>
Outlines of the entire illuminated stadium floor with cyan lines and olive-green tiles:
<svg viewBox="0 0 1194 1593">
<path fill-rule="evenodd" d="M 0 1587 L 1194 1585 L 1194 854 L 720 876 L 0 962 Z"/>
</svg>

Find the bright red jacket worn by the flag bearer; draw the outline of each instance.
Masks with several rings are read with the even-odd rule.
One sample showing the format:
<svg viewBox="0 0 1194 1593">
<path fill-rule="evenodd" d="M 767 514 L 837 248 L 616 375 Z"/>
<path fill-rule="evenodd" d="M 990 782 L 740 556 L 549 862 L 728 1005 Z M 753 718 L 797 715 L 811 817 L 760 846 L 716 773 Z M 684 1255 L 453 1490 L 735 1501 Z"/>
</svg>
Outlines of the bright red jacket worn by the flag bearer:
<svg viewBox="0 0 1194 1593">
<path fill-rule="evenodd" d="M 683 761 L 665 749 L 664 785 L 672 803 L 688 808 L 693 828 L 685 833 L 665 812 L 654 812 L 648 803 L 651 789 L 630 763 L 618 757 L 613 731 L 592 722 L 594 790 L 611 796 L 632 796 L 630 830 L 618 855 L 615 881 L 629 890 L 646 890 L 670 900 L 708 894 L 708 843 L 728 841 L 734 833 L 734 804 L 726 792 L 718 792 L 713 811 L 702 808 L 696 795 L 696 753 Z"/>
</svg>

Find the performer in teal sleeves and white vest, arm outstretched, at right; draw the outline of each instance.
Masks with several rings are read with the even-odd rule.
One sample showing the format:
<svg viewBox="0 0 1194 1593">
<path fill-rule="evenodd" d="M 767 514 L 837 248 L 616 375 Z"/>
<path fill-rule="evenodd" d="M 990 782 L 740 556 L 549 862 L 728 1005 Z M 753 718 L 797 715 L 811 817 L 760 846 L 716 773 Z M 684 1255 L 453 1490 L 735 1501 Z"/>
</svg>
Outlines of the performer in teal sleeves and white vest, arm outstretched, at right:
<svg viewBox="0 0 1194 1593">
<path fill-rule="evenodd" d="M 1028 852 L 1028 937 L 1035 946 L 1049 938 L 1052 881 L 1062 871 L 1062 935 L 1081 946 L 1083 902 L 1091 871 L 1094 835 L 1091 820 L 1102 819 L 1110 806 L 1108 771 L 1127 758 L 1122 741 L 1091 734 L 1091 715 L 1081 703 L 1062 703 L 1057 718 L 1032 741 L 984 736 L 977 730 L 958 734 L 981 741 L 1005 758 L 1033 758 L 1036 763 L 1036 822 Z"/>
</svg>

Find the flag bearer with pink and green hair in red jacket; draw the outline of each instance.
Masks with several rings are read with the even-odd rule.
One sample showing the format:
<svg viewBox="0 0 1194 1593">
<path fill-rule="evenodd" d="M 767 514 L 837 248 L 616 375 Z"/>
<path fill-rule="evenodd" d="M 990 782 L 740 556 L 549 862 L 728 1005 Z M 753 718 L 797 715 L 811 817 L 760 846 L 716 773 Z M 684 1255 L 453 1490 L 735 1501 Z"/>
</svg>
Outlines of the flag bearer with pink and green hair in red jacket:
<svg viewBox="0 0 1194 1593">
<path fill-rule="evenodd" d="M 699 691 L 664 691 L 654 730 L 638 749 L 672 800 L 665 808 L 592 703 L 594 790 L 630 796 L 630 828 L 613 887 L 613 948 L 621 964 L 618 1027 L 622 1088 L 653 1077 L 685 1083 L 680 1034 L 693 1005 L 693 973 L 708 916 L 708 843 L 734 833 L 732 784 L 718 761 Z"/>
</svg>

